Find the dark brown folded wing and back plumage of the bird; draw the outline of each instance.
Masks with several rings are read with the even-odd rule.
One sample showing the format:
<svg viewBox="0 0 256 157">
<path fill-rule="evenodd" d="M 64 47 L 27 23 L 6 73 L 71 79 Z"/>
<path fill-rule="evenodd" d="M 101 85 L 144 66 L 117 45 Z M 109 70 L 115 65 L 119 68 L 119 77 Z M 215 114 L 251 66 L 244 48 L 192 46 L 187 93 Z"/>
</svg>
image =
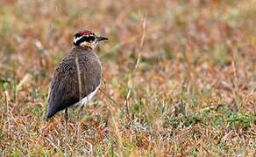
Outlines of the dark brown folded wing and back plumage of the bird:
<svg viewBox="0 0 256 157">
<path fill-rule="evenodd" d="M 82 97 L 96 90 L 101 80 L 101 65 L 95 59 L 79 58 Z M 75 58 L 64 58 L 57 67 L 51 85 L 49 108 L 46 118 L 80 100 L 78 72 Z"/>
</svg>

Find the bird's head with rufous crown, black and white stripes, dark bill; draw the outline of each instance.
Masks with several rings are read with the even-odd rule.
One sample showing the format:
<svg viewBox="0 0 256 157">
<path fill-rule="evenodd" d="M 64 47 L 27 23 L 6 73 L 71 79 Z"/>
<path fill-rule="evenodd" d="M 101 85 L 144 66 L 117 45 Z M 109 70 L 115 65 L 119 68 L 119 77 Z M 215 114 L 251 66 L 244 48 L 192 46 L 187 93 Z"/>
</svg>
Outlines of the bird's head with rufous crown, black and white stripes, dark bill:
<svg viewBox="0 0 256 157">
<path fill-rule="evenodd" d="M 93 50 L 100 41 L 104 40 L 108 40 L 108 38 L 96 36 L 92 31 L 79 31 L 74 36 L 73 44 L 76 46 L 89 47 Z"/>
</svg>

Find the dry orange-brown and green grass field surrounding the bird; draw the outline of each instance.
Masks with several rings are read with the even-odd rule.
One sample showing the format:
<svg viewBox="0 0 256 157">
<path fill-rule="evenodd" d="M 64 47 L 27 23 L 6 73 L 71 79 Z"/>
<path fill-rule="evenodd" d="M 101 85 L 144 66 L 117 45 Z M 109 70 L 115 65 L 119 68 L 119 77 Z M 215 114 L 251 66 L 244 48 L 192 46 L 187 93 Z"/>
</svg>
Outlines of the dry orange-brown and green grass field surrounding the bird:
<svg viewBox="0 0 256 157">
<path fill-rule="evenodd" d="M 256 155 L 256 2 L 0 1 L 1 156 Z M 44 119 L 76 31 L 110 41 L 101 92 Z"/>
</svg>

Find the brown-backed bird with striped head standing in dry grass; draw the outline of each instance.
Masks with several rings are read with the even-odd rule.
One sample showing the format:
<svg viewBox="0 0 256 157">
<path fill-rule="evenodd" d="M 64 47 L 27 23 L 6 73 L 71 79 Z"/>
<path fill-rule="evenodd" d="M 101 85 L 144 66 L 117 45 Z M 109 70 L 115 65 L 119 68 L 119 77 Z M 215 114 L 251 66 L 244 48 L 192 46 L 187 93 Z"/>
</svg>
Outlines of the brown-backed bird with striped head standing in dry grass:
<svg viewBox="0 0 256 157">
<path fill-rule="evenodd" d="M 108 38 L 93 31 L 75 33 L 68 56 L 56 67 L 49 88 L 46 119 L 65 110 L 68 132 L 68 107 L 86 105 L 102 83 L 102 63 L 96 55 L 96 46 Z"/>
</svg>

